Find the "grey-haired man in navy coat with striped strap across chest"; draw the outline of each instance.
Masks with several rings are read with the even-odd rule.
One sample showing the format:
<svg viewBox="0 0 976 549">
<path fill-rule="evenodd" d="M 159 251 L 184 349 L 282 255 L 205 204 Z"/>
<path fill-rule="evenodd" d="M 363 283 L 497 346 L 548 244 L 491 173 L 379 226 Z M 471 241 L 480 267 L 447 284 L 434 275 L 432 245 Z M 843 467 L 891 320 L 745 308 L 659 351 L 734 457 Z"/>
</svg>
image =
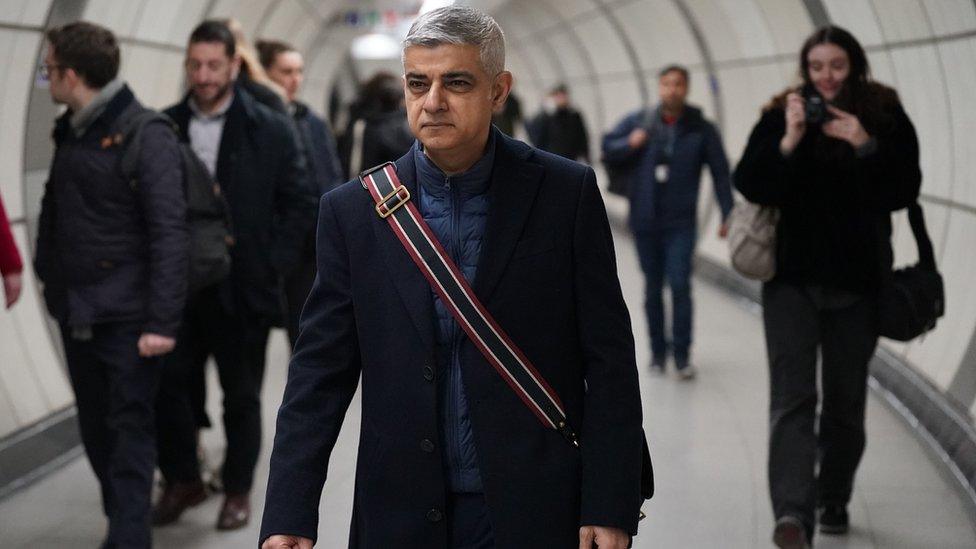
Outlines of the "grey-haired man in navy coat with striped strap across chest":
<svg viewBox="0 0 976 549">
<path fill-rule="evenodd" d="M 262 547 L 317 539 L 361 378 L 350 547 L 623 549 L 641 403 L 593 170 L 492 127 L 512 75 L 491 17 L 422 15 L 403 68 L 413 148 L 320 203 Z"/>
</svg>

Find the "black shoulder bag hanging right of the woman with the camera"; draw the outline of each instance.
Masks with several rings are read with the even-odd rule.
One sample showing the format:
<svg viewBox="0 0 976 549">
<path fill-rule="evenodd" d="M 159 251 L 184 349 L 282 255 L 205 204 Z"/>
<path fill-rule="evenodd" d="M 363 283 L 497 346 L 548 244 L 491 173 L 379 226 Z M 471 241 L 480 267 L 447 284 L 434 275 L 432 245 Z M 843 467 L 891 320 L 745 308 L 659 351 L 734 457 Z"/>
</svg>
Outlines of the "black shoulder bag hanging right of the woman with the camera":
<svg viewBox="0 0 976 549">
<path fill-rule="evenodd" d="M 945 314 L 945 288 L 935 265 L 932 241 L 925 230 L 922 207 L 908 207 L 908 221 L 918 245 L 918 263 L 882 275 L 878 302 L 879 332 L 909 341 L 935 328 Z"/>
</svg>

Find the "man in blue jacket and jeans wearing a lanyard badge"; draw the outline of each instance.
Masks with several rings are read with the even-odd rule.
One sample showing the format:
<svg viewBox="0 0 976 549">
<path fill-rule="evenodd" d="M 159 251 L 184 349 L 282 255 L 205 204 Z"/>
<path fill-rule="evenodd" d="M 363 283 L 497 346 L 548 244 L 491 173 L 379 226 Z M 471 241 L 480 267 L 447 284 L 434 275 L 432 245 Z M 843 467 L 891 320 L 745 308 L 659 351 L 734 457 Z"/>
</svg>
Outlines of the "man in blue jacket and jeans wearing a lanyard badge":
<svg viewBox="0 0 976 549">
<path fill-rule="evenodd" d="M 626 116 L 603 139 L 607 160 L 637 157 L 630 185 L 630 228 L 646 279 L 646 312 L 651 332 L 651 371 L 663 374 L 667 356 L 681 379 L 692 379 L 691 265 L 698 238 L 701 171 L 708 165 L 722 211 L 719 236 L 732 211 L 729 162 L 722 139 L 701 110 L 688 105 L 688 71 L 672 65 L 659 74 L 660 105 Z M 650 114 L 650 116 L 648 116 Z M 649 126 L 649 127 L 648 127 Z M 671 288 L 672 338 L 665 339 L 662 292 Z"/>
</svg>

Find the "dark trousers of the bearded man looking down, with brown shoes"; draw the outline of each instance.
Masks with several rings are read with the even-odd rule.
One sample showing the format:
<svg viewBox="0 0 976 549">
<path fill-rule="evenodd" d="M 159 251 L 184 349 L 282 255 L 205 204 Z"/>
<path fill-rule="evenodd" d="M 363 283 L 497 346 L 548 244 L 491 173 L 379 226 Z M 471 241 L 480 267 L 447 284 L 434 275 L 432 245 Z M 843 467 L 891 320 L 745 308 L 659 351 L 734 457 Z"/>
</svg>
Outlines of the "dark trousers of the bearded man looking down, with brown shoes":
<svg viewBox="0 0 976 549">
<path fill-rule="evenodd" d="M 262 318 L 225 310 L 217 288 L 203 290 L 187 304 L 157 399 L 159 468 L 168 482 L 200 479 L 198 422 L 188 385 L 192 387 L 192 380 L 202 375 L 212 355 L 224 393 L 224 490 L 228 494 L 251 490 L 261 450 L 261 385 L 269 330 Z"/>
</svg>

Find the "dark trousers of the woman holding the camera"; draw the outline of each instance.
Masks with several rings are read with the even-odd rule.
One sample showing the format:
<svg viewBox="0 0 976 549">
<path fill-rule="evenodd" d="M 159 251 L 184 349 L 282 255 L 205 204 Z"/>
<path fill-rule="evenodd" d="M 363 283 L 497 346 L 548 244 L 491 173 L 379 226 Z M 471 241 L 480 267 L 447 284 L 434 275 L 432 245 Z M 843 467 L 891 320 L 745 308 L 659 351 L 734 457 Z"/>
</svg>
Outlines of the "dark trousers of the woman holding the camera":
<svg viewBox="0 0 976 549">
<path fill-rule="evenodd" d="M 850 500 L 864 453 L 877 305 L 872 298 L 780 281 L 765 284 L 762 298 L 770 368 L 773 512 L 777 519 L 794 516 L 812 531 L 818 505 L 846 505 Z"/>
</svg>

